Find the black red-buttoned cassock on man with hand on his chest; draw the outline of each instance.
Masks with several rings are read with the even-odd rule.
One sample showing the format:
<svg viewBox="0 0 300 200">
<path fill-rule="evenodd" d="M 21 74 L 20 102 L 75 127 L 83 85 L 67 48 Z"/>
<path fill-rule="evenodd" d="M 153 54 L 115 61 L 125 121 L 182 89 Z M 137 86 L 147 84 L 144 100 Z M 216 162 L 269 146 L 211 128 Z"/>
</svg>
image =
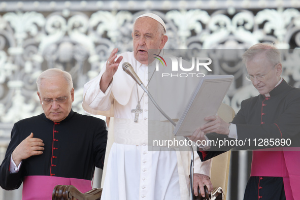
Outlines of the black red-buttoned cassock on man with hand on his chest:
<svg viewBox="0 0 300 200">
<path fill-rule="evenodd" d="M 10 173 L 10 157 L 13 150 L 31 132 L 34 133 L 34 138 L 43 140 L 43 154 L 23 160 L 19 172 Z M 24 177 L 33 176 L 90 181 L 95 166 L 103 169 L 106 143 L 105 121 L 78 114 L 73 110 L 61 122 L 47 119 L 44 113 L 20 120 L 14 124 L 11 141 L 0 166 L 0 185 L 7 190 L 16 189 Z"/>
</svg>

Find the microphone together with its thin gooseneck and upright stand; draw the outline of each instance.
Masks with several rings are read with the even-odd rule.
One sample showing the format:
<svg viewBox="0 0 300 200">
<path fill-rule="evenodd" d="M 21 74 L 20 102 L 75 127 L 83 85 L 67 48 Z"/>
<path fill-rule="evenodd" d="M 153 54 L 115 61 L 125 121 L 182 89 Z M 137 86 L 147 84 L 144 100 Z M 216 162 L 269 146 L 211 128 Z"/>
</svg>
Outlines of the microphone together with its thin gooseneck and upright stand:
<svg viewBox="0 0 300 200">
<path fill-rule="evenodd" d="M 149 93 L 148 89 L 145 87 L 145 85 L 143 84 L 143 82 L 141 81 L 141 79 L 139 78 L 139 76 L 136 74 L 134 68 L 132 68 L 131 64 L 129 62 L 124 62 L 122 64 L 122 68 L 123 70 L 132 77 L 132 79 L 134 79 L 142 88 L 143 90 L 148 94 L 149 98 L 151 99 L 151 101 L 153 102 L 153 104 L 155 105 L 155 107 L 159 110 L 159 112 L 166 118 L 168 119 L 173 125 L 174 127 L 176 126 L 176 123 L 173 121 L 173 119 L 171 119 L 167 114 L 165 114 L 163 112 L 163 110 L 161 110 L 161 108 L 158 106 L 158 104 L 155 102 L 154 98 L 152 97 L 152 95 Z M 186 140 L 189 140 L 186 136 L 184 137 Z M 193 199 L 193 175 L 194 175 L 194 150 L 192 148 L 192 146 L 190 147 L 190 152 L 191 152 L 191 163 L 190 163 L 190 190 L 191 190 L 191 194 L 190 194 L 190 199 Z"/>
</svg>

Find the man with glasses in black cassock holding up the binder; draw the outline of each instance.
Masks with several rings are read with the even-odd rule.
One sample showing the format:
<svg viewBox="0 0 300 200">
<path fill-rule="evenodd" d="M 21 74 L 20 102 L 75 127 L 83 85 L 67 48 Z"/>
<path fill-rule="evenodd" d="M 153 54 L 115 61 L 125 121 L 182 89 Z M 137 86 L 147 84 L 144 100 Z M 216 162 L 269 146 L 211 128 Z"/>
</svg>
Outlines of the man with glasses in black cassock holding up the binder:
<svg viewBox="0 0 300 200">
<path fill-rule="evenodd" d="M 197 129 L 198 136 L 193 140 L 210 144 L 202 146 L 198 154 L 208 160 L 234 146 L 256 149 L 244 199 L 300 199 L 300 152 L 296 148 L 300 144 L 300 89 L 281 78 L 280 51 L 273 45 L 256 44 L 243 54 L 243 60 L 246 79 L 259 95 L 242 101 L 231 123 L 219 116 L 207 117 L 209 122 Z M 220 148 L 214 145 L 216 140 L 234 145 L 227 143 Z"/>
</svg>

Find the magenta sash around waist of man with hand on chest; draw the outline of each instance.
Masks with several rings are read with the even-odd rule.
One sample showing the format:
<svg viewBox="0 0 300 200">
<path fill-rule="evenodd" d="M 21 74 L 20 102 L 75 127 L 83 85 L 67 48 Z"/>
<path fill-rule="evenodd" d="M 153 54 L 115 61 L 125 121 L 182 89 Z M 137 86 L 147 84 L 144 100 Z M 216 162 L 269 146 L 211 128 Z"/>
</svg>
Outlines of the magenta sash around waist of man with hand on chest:
<svg viewBox="0 0 300 200">
<path fill-rule="evenodd" d="M 22 200 L 49 200 L 56 185 L 74 185 L 82 193 L 92 189 L 91 181 L 54 176 L 26 176 L 23 181 Z"/>
</svg>

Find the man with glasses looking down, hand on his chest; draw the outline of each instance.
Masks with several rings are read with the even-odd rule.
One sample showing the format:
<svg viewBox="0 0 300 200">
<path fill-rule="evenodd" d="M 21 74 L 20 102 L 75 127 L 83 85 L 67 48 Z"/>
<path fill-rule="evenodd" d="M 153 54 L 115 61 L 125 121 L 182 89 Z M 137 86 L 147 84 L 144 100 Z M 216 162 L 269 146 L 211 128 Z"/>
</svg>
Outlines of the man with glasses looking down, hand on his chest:
<svg viewBox="0 0 300 200">
<path fill-rule="evenodd" d="M 95 166 L 103 169 L 105 121 L 72 110 L 74 88 L 68 72 L 49 69 L 38 80 L 44 113 L 14 124 L 0 166 L 0 185 L 20 187 L 22 199 L 51 199 L 55 185 L 91 189 Z"/>
</svg>

